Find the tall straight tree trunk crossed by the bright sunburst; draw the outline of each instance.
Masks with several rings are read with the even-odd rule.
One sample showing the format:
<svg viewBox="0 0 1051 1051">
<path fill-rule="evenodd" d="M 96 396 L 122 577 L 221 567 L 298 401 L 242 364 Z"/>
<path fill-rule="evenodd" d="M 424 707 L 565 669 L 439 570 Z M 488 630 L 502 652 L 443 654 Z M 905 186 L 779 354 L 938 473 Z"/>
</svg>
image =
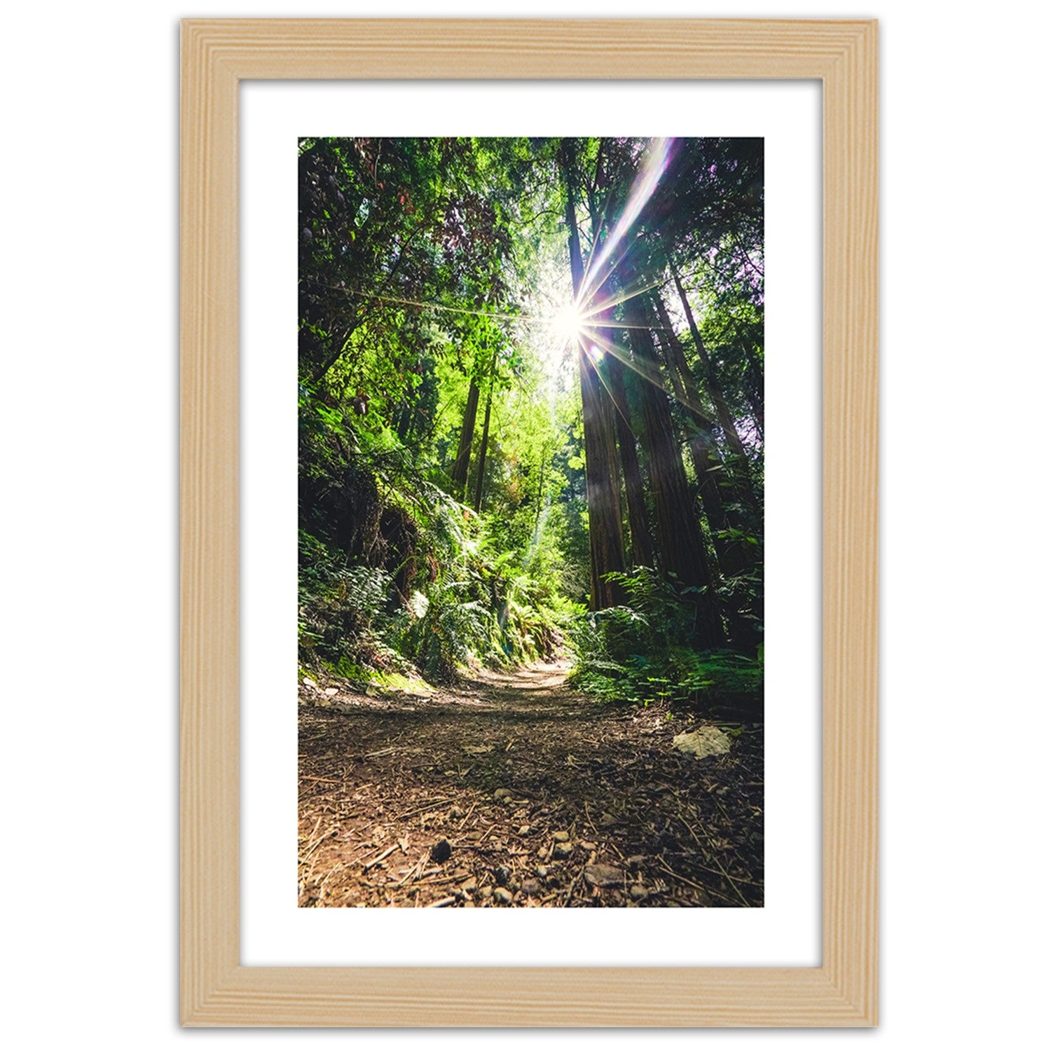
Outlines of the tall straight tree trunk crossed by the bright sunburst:
<svg viewBox="0 0 1051 1051">
<path fill-rule="evenodd" d="M 562 174 L 565 179 L 565 226 L 569 230 L 570 273 L 573 294 L 583 283 L 583 260 L 576 215 L 576 143 L 562 142 Z M 622 589 L 605 579 L 607 573 L 624 571 L 624 539 L 621 535 L 620 479 L 617 475 L 617 442 L 614 408 L 605 394 L 590 348 L 577 339 L 580 363 L 580 399 L 584 425 L 584 462 L 588 480 L 588 535 L 591 544 L 591 607 L 619 605 Z"/>
</svg>

